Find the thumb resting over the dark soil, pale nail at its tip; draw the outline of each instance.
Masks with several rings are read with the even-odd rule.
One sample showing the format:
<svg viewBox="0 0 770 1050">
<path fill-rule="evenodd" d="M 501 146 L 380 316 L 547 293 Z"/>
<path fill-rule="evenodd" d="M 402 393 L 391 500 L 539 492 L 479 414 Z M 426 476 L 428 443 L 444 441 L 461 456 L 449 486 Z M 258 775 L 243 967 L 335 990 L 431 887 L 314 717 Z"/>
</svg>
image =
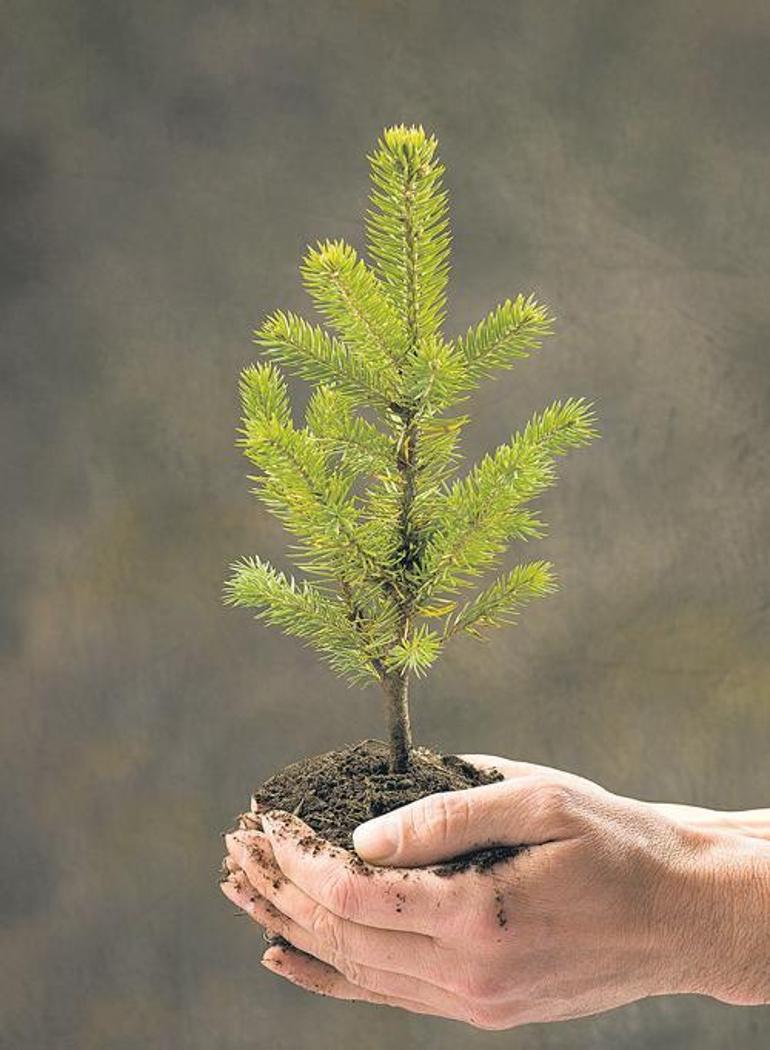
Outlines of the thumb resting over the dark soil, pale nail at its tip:
<svg viewBox="0 0 770 1050">
<path fill-rule="evenodd" d="M 492 845 L 536 845 L 568 834 L 563 785 L 540 778 L 439 792 L 359 824 L 353 845 L 372 864 L 413 867 Z"/>
</svg>

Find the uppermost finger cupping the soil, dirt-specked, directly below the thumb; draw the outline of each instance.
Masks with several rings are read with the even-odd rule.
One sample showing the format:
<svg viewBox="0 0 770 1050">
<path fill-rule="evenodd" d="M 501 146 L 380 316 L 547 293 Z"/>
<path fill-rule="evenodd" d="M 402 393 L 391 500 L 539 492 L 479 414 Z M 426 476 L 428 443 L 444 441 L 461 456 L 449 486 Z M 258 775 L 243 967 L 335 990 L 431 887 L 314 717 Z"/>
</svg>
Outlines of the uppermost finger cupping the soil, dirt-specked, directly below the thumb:
<svg viewBox="0 0 770 1050">
<path fill-rule="evenodd" d="M 372 867 L 276 810 L 263 816 L 263 825 L 283 874 L 341 919 L 428 936 L 460 925 L 461 879 Z"/>
</svg>

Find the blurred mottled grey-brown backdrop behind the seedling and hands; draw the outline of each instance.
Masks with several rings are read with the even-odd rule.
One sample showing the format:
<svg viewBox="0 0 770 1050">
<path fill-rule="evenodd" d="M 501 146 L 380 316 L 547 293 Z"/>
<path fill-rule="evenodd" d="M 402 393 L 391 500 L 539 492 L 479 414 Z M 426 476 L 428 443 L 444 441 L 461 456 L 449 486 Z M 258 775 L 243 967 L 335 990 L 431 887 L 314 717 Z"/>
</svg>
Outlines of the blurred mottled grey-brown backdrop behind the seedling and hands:
<svg viewBox="0 0 770 1050">
<path fill-rule="evenodd" d="M 450 331 L 520 290 L 559 319 L 474 402 L 469 458 L 559 396 L 603 430 L 524 552 L 561 594 L 455 644 L 418 738 L 770 805 L 768 5 L 16 0 L 2 22 L 0 1044 L 767 1046 L 770 1009 L 694 998 L 502 1035 L 314 998 L 257 965 L 214 875 L 253 783 L 381 732 L 373 690 L 220 589 L 241 554 L 289 565 L 234 447 L 250 330 L 311 314 L 308 243 L 361 247 L 365 153 L 399 121 L 449 167 Z"/>
</svg>

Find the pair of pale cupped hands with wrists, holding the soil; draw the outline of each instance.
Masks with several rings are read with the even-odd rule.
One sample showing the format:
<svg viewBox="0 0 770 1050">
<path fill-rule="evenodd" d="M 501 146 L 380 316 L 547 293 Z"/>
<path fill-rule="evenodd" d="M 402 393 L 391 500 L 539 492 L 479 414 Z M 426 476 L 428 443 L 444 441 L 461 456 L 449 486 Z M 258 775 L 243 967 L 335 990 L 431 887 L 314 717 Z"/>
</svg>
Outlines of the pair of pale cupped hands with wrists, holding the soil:
<svg viewBox="0 0 770 1050">
<path fill-rule="evenodd" d="M 266 967 L 482 1029 L 649 995 L 770 1003 L 770 810 L 642 802 L 547 766 L 463 757 L 505 779 L 395 811 L 389 856 L 388 817 L 361 825 L 366 864 L 275 811 L 226 837 L 223 892 L 293 946 L 269 947 Z M 527 848 L 487 872 L 431 868 L 493 842 Z"/>
</svg>

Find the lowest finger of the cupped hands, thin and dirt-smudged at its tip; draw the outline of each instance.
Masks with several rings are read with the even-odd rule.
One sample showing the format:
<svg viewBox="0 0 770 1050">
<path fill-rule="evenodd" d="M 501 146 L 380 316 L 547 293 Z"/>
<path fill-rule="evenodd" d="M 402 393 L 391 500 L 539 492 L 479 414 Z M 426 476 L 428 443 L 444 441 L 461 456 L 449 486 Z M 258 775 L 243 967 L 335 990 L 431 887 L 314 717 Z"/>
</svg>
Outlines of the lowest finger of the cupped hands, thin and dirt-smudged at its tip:
<svg viewBox="0 0 770 1050">
<path fill-rule="evenodd" d="M 306 991 L 317 995 L 332 995 L 334 999 L 362 1003 L 376 1003 L 382 1006 L 395 1006 L 412 1013 L 428 1013 L 433 1016 L 451 1017 L 455 1021 L 466 1020 L 467 1011 L 453 1013 L 450 1001 L 445 1005 L 432 1005 L 408 995 L 396 995 L 365 988 L 350 981 L 344 973 L 328 963 L 320 962 L 305 952 L 293 948 L 271 947 L 262 958 L 263 965 L 298 985 Z"/>
</svg>

